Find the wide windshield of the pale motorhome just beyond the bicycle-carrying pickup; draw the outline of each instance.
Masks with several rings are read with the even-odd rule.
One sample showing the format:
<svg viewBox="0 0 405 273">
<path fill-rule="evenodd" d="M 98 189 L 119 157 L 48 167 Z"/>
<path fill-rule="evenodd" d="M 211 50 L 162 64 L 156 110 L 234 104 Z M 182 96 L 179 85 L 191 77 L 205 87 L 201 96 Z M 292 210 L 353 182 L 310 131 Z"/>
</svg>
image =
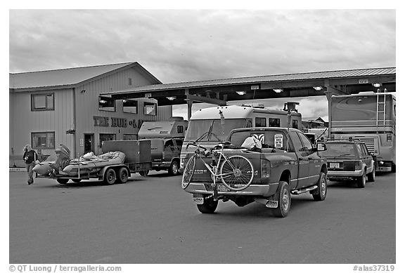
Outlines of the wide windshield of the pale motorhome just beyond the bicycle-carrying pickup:
<svg viewBox="0 0 405 273">
<path fill-rule="evenodd" d="M 243 127 L 245 127 L 245 119 L 226 119 L 223 125 L 220 119 L 194 119 L 188 124 L 184 140 L 223 141 L 232 129 Z"/>
</svg>

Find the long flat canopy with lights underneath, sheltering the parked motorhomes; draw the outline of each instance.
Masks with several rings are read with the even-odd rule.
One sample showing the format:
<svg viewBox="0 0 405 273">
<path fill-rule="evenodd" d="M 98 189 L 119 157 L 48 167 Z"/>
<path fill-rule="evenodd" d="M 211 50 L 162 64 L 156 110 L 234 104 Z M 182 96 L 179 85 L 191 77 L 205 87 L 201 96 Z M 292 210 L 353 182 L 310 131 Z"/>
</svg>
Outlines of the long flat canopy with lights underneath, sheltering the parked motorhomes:
<svg viewBox="0 0 405 273">
<path fill-rule="evenodd" d="M 395 92 L 395 85 L 396 67 L 385 67 L 154 84 L 102 95 L 113 100 L 153 98 L 160 106 L 193 102 L 226 105 L 229 100 L 348 95 L 378 88 Z"/>
</svg>

